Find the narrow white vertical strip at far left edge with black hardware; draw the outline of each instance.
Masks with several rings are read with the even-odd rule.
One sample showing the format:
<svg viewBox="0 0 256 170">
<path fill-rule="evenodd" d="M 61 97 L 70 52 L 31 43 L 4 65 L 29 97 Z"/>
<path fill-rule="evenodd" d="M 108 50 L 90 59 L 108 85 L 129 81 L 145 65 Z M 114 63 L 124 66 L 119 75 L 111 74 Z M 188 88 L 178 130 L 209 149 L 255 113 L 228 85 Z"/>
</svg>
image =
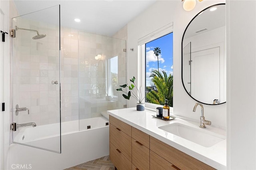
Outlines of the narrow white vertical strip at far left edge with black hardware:
<svg viewBox="0 0 256 170">
<path fill-rule="evenodd" d="M 2 42 L 2 35 L 0 36 L 0 169 L 6 169 L 8 165 L 8 146 L 9 146 L 9 133 L 10 133 L 10 38 L 9 38 L 9 1 L 0 0 L 0 28 L 4 32 L 5 42 Z M 2 33 L 1 33 L 2 34 Z M 2 102 L 5 103 L 5 111 L 2 111 Z M 8 124 L 7 124 L 8 123 Z"/>
</svg>

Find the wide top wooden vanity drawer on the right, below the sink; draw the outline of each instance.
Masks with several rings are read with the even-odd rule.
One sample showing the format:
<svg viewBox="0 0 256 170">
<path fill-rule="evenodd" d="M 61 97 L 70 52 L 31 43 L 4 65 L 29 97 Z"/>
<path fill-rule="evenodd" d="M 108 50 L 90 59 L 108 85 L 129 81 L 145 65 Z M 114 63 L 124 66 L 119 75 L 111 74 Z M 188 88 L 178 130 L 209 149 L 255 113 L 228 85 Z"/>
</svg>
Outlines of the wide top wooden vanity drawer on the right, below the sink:
<svg viewBox="0 0 256 170">
<path fill-rule="evenodd" d="M 180 150 L 150 136 L 150 150 L 168 160 L 174 166 L 186 170 L 214 170 L 211 166 L 181 152 Z M 151 156 L 151 155 L 150 155 Z"/>
</svg>

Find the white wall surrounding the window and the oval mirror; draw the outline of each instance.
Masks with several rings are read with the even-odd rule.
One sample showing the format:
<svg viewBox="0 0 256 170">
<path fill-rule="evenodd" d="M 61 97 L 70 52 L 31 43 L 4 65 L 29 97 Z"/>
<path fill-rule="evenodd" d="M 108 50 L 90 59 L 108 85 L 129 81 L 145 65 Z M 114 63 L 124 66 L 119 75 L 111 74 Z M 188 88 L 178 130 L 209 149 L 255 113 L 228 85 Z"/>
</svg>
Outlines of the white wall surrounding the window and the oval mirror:
<svg viewBox="0 0 256 170">
<path fill-rule="evenodd" d="M 182 86 L 181 81 L 181 41 L 184 30 L 190 20 L 204 8 L 213 4 L 225 3 L 224 0 L 205 0 L 198 2 L 194 10 L 186 12 L 182 8 L 179 0 L 157 1 L 146 11 L 128 23 L 128 50 L 127 65 L 128 77 L 138 77 L 138 39 L 147 34 L 173 22 L 173 56 L 174 56 L 174 114 L 199 121 L 200 113 L 192 112 L 194 101 L 190 98 Z M 157 21 L 157 23 L 155 22 Z M 139 73 L 141 74 L 141 73 Z M 135 101 L 128 102 L 129 107 L 134 107 Z M 185 107 L 186 106 L 186 107 Z M 226 104 L 204 105 L 204 113 L 207 120 L 212 121 L 212 125 L 226 127 Z"/>
</svg>

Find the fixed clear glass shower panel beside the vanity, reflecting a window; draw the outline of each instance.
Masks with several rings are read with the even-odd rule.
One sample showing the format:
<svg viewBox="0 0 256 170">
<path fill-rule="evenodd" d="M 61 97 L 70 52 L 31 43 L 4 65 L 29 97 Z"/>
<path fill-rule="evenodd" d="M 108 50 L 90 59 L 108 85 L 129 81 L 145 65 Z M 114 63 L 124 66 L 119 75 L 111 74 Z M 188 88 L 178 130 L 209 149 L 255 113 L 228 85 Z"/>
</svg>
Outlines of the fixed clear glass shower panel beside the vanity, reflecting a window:
<svg viewBox="0 0 256 170">
<path fill-rule="evenodd" d="M 102 115 L 126 105 L 116 91 L 126 83 L 126 41 L 82 31 L 78 36 L 79 130 L 106 126 Z"/>
</svg>

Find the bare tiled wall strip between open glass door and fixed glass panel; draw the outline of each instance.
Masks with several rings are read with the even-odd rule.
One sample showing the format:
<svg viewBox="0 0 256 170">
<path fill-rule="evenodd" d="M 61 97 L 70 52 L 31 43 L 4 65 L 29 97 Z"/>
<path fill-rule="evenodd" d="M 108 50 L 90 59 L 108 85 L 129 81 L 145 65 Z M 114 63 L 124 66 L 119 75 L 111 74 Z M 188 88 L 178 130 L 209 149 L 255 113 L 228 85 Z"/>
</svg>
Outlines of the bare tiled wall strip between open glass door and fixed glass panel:
<svg viewBox="0 0 256 170">
<path fill-rule="evenodd" d="M 61 118 L 78 120 L 78 30 L 62 27 L 60 34 Z"/>
</svg>

